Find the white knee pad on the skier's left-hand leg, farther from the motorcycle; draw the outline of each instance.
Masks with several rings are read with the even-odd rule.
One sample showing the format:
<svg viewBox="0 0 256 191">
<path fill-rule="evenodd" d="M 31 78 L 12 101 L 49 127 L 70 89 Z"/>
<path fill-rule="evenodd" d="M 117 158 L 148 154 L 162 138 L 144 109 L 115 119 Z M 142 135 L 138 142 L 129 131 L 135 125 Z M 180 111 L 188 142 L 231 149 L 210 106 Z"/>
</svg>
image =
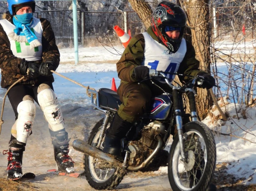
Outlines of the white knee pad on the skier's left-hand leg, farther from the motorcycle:
<svg viewBox="0 0 256 191">
<path fill-rule="evenodd" d="M 19 114 L 15 121 L 17 131 L 16 138 L 22 143 L 27 143 L 36 116 L 36 105 L 34 104 L 33 98 L 29 95 L 24 96 L 23 101 L 18 105 L 17 111 Z"/>
</svg>

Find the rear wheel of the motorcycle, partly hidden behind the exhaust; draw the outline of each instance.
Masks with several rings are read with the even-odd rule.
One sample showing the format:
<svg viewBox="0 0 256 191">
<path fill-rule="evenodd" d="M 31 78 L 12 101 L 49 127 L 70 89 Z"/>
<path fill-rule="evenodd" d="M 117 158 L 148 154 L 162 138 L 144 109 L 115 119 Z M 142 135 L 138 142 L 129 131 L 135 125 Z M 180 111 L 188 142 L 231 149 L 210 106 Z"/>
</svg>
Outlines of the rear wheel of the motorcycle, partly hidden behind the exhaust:
<svg viewBox="0 0 256 191">
<path fill-rule="evenodd" d="M 97 145 L 103 120 L 104 118 L 99 120 L 93 127 L 89 135 L 88 144 L 92 146 Z M 102 140 L 102 143 L 103 142 L 104 140 Z M 100 150 L 104 148 L 102 143 L 100 148 L 98 148 Z M 103 160 L 99 160 L 88 155 L 84 155 L 84 169 L 85 177 L 88 183 L 90 186 L 97 190 L 114 189 L 116 186 L 118 186 L 118 184 L 120 184 L 124 175 L 126 174 L 126 169 L 114 167 L 113 165 L 110 165 Z"/>
</svg>

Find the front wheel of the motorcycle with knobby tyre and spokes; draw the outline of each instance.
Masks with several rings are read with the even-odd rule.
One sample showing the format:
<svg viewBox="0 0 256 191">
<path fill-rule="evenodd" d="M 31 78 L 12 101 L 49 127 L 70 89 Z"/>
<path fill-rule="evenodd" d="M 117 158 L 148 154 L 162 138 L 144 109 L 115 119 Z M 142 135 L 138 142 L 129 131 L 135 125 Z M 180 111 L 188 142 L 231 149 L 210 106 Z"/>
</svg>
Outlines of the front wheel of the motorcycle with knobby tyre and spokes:
<svg viewBox="0 0 256 191">
<path fill-rule="evenodd" d="M 201 122 L 189 122 L 184 126 L 184 151 L 186 161 L 181 160 L 178 135 L 169 153 L 168 177 L 173 191 L 207 190 L 216 164 L 216 145 L 210 129 Z"/>
</svg>

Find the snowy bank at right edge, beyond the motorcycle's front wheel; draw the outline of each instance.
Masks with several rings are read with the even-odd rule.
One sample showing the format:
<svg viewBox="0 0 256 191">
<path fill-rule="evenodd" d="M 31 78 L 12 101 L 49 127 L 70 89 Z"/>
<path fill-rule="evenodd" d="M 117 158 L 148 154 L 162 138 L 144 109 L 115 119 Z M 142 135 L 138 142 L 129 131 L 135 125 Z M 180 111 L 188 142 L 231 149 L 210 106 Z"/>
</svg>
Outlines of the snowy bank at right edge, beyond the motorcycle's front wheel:
<svg viewBox="0 0 256 191">
<path fill-rule="evenodd" d="M 236 136 L 215 134 L 217 163 L 227 162 L 227 172 L 244 178 L 242 184 L 255 184 L 256 110 L 228 101 L 230 100 L 225 97 L 225 106 L 221 108 L 222 111 L 229 113 L 230 117 L 226 122 L 216 120 L 220 113 L 213 107 L 213 117 L 206 117 L 203 123 L 217 132 Z M 220 100 L 219 104 L 223 105 L 223 101 Z"/>
</svg>

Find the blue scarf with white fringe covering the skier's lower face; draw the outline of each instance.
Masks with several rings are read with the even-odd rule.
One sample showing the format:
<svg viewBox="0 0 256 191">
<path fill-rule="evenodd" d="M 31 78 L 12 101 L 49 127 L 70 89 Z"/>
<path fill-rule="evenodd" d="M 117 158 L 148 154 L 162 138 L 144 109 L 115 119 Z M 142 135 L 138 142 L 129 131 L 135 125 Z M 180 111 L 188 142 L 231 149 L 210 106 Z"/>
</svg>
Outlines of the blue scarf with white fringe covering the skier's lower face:
<svg viewBox="0 0 256 191">
<path fill-rule="evenodd" d="M 12 18 L 12 21 L 16 26 L 16 28 L 14 28 L 14 33 L 20 36 L 25 36 L 30 44 L 30 49 L 41 45 L 35 33 L 29 28 L 33 21 L 33 13 L 15 15 Z"/>
</svg>

